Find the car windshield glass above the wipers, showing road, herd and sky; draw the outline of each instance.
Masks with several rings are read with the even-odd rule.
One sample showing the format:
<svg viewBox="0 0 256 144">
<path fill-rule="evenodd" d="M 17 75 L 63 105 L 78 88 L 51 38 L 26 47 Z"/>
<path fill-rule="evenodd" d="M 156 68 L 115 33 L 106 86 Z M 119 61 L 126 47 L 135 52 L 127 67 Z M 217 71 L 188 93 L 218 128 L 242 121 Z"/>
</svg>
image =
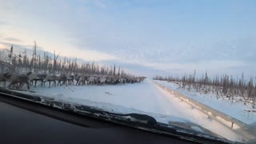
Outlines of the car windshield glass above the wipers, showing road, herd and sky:
<svg viewBox="0 0 256 144">
<path fill-rule="evenodd" d="M 0 86 L 255 142 L 255 6 L 0 0 Z"/>
</svg>

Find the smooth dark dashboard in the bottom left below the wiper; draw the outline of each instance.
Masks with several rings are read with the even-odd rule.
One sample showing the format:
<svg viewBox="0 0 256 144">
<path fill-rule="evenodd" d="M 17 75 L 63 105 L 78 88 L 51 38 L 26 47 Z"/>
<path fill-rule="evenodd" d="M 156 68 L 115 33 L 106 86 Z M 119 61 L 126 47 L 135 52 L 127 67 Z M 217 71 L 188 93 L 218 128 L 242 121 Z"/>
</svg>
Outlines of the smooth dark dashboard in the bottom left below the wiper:
<svg viewBox="0 0 256 144">
<path fill-rule="evenodd" d="M 63 122 L 0 101 L 0 143 L 191 143 L 90 118 Z M 42 108 L 43 109 L 43 108 Z M 52 111 L 53 113 L 61 113 Z M 74 115 L 62 114 L 63 117 Z M 68 118 L 67 118 L 68 119 Z M 79 126 L 80 125 L 80 126 Z"/>
</svg>

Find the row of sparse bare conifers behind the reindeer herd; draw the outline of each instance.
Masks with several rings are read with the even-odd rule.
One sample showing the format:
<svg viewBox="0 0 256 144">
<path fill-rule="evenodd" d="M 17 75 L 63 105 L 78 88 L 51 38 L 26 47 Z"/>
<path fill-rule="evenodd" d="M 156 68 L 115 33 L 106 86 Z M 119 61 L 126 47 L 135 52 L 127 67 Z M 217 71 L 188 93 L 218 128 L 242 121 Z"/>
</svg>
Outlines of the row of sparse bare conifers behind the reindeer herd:
<svg viewBox="0 0 256 144">
<path fill-rule="evenodd" d="M 102 74 L 102 75 L 119 75 L 125 77 L 127 74 L 124 70 L 120 70 L 120 66 L 116 70 L 116 66 L 99 66 L 94 62 L 77 62 L 77 58 L 60 58 L 55 53 L 50 56 L 47 52 L 43 55 L 37 54 L 37 44 L 34 42 L 32 57 L 26 54 L 26 50 L 22 54 L 14 54 L 14 47 L 8 50 L 8 62 L 1 62 L 0 72 L 10 71 L 12 73 L 22 74 L 24 72 L 33 71 L 34 73 L 56 74 L 56 73 L 83 73 L 83 74 Z"/>
</svg>

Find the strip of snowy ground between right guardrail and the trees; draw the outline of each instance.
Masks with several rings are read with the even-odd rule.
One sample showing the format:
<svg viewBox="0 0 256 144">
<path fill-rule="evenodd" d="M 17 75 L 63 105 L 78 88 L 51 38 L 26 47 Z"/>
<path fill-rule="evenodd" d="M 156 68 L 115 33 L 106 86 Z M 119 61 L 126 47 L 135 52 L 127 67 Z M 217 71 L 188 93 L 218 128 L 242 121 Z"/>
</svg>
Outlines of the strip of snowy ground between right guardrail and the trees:
<svg viewBox="0 0 256 144">
<path fill-rule="evenodd" d="M 172 82 L 157 81 L 162 86 L 166 86 L 171 90 L 177 90 L 179 93 L 186 95 L 186 97 L 192 98 L 197 102 L 201 102 L 206 106 L 210 106 L 215 110 L 219 110 L 224 114 L 230 115 L 246 124 L 254 124 L 256 122 L 256 113 L 247 112 L 251 110 L 251 105 L 245 105 L 244 102 L 231 102 L 228 99 L 216 98 L 214 94 L 198 94 L 196 92 L 188 92 L 186 90 L 178 89 L 178 85 Z"/>
</svg>

